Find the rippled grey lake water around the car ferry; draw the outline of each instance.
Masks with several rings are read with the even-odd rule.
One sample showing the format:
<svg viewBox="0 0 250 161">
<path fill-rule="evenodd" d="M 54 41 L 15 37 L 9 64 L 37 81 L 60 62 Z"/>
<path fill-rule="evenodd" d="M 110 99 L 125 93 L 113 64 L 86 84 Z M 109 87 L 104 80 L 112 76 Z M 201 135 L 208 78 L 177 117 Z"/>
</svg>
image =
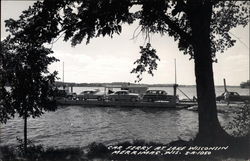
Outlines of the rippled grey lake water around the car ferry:
<svg viewBox="0 0 250 161">
<path fill-rule="evenodd" d="M 79 93 L 85 89 L 89 87 L 74 88 L 74 91 Z M 160 89 L 169 94 L 173 91 L 170 87 Z M 181 90 L 190 97 L 195 95 L 194 87 L 182 87 Z M 234 87 L 229 90 L 249 94 L 248 89 Z M 218 94 L 223 91 L 223 87 L 216 89 Z M 230 113 L 219 114 L 223 126 L 231 119 Z M 67 106 L 47 112 L 40 118 L 29 118 L 28 138 L 35 144 L 53 147 L 85 147 L 94 141 L 108 145 L 135 139 L 169 143 L 178 137 L 185 140 L 193 138 L 197 126 L 197 112 L 184 109 Z M 16 137 L 23 137 L 23 120 L 18 117 L 0 127 L 2 145 L 16 144 Z"/>
</svg>

